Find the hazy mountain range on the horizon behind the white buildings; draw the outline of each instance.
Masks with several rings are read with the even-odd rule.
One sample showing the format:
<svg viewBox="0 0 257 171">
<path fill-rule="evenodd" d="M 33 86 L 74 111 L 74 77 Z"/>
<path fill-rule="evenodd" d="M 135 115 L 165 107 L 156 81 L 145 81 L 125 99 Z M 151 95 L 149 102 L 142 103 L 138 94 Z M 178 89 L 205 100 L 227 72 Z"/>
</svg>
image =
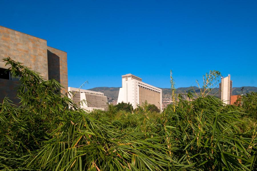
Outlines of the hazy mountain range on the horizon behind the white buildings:
<svg viewBox="0 0 257 171">
<path fill-rule="evenodd" d="M 171 94 L 172 94 L 171 89 L 170 88 L 160 88 L 160 89 L 162 89 L 162 103 L 163 104 L 169 103 L 171 101 Z M 187 93 L 188 91 L 193 91 L 193 89 L 197 94 L 200 94 L 200 89 L 195 86 L 194 87 L 177 88 L 175 93 L 176 94 Z M 242 89 L 242 87 L 233 87 L 232 95 L 241 94 L 241 89 Z M 104 95 L 107 96 L 108 101 L 110 103 L 113 103 L 115 105 L 117 104 L 120 87 L 95 87 L 95 88 L 91 88 L 89 90 L 102 92 L 102 93 L 104 93 Z M 218 95 L 219 95 L 218 91 L 219 91 L 219 88 L 214 88 L 209 93 L 209 95 L 214 95 L 214 96 L 218 97 Z M 243 89 L 243 94 L 245 95 L 246 93 L 250 93 L 252 91 L 257 92 L 257 87 L 245 86 Z"/>
</svg>

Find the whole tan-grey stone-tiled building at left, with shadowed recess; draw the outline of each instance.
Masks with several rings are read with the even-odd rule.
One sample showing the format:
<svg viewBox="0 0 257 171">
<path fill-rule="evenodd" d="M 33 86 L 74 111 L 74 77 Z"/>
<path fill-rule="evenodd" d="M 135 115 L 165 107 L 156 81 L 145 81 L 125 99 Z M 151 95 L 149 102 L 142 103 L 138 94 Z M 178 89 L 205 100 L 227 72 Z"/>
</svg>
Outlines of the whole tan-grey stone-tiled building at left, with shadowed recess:
<svg viewBox="0 0 257 171">
<path fill-rule="evenodd" d="M 0 26 L 0 103 L 4 97 L 19 102 L 15 98 L 18 79 L 6 71 L 10 66 L 2 60 L 7 57 L 41 73 L 46 80 L 57 80 L 64 86 L 62 93 L 68 91 L 67 52 L 47 46 L 47 40 Z"/>
</svg>

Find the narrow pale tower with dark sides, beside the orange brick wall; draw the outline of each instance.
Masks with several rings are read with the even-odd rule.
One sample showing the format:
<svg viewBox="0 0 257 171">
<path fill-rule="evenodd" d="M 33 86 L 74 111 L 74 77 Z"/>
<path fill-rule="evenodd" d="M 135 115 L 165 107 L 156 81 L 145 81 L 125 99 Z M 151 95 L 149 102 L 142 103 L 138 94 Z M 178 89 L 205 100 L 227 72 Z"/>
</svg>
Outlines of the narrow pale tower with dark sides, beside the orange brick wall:
<svg viewBox="0 0 257 171">
<path fill-rule="evenodd" d="M 230 104 L 230 97 L 232 96 L 232 80 L 230 80 L 230 74 L 228 74 L 228 76 L 225 78 L 221 78 L 219 93 L 220 99 L 225 104 Z"/>
</svg>

